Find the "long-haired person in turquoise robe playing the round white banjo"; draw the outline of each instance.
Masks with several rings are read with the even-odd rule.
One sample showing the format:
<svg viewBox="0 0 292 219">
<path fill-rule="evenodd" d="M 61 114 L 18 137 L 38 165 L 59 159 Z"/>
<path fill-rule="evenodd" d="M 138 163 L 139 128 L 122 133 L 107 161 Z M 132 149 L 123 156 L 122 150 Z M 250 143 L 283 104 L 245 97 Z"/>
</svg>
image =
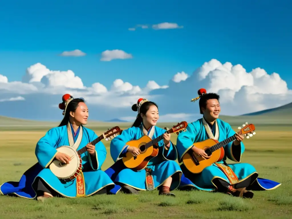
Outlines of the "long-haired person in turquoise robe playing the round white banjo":
<svg viewBox="0 0 292 219">
<path fill-rule="evenodd" d="M 114 187 L 109 176 L 101 170 L 107 154 L 105 146 L 101 141 L 95 146 L 88 144 L 98 136 L 94 131 L 83 126 L 87 124 L 88 119 L 88 108 L 84 99 L 74 99 L 69 94 L 65 94 L 62 100 L 63 102 L 59 104 L 64 115 L 62 122 L 58 127 L 50 129 L 36 144 L 35 154 L 38 163 L 24 173 L 20 182 L 1 185 L 2 194 L 15 194 L 30 199 L 37 197 L 37 200 L 44 201 L 53 196 L 87 197 L 106 193 Z M 81 154 L 81 177 L 67 183 L 58 179 L 47 168 L 54 159 L 70 164 L 70 157 L 56 150 L 63 145 L 71 146 L 75 150 L 85 145 L 87 148 L 87 152 Z"/>
</svg>

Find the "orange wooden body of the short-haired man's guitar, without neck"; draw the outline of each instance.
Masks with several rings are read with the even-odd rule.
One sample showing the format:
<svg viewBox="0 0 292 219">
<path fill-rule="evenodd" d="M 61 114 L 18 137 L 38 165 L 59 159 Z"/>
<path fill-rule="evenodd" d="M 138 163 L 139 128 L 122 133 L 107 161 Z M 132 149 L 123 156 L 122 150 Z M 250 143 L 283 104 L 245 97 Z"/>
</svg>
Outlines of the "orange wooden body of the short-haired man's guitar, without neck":
<svg viewBox="0 0 292 219">
<path fill-rule="evenodd" d="M 196 142 L 193 145 L 199 149 L 203 149 L 208 156 L 210 156 L 211 152 L 208 151 L 210 147 L 213 145 L 217 144 L 218 141 L 215 139 L 207 139 L 201 142 Z M 189 150 L 187 153 L 184 154 L 183 156 L 183 164 L 185 167 L 191 172 L 191 173 L 201 173 L 204 168 L 207 166 L 211 166 L 213 163 L 216 161 L 220 161 L 224 157 L 224 148 L 221 147 L 218 150 L 215 150 L 212 154 L 211 157 L 206 159 L 204 157 L 195 157 L 196 155 L 192 150 Z M 196 160 L 197 159 L 197 164 Z"/>
</svg>

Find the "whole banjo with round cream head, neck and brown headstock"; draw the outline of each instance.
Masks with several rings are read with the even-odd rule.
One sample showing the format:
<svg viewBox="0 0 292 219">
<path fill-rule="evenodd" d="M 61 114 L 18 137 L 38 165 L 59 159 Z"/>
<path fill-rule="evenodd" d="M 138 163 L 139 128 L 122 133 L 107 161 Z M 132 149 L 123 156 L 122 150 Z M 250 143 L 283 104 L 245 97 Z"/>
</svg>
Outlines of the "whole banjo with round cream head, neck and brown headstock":
<svg viewBox="0 0 292 219">
<path fill-rule="evenodd" d="M 100 135 L 98 138 L 94 139 L 89 144 L 96 145 L 102 139 L 111 140 L 117 135 L 121 134 L 122 130 L 115 126 L 111 129 L 108 129 L 105 133 Z M 69 182 L 77 178 L 77 176 L 82 171 L 82 159 L 81 154 L 87 151 L 86 146 L 76 151 L 70 146 L 61 146 L 56 149 L 58 152 L 67 154 L 70 157 L 69 164 L 65 164 L 62 161 L 58 161 L 54 159 L 52 163 L 48 166 L 48 168 L 52 171 L 52 173 L 60 180 L 64 180 L 65 182 Z"/>
</svg>

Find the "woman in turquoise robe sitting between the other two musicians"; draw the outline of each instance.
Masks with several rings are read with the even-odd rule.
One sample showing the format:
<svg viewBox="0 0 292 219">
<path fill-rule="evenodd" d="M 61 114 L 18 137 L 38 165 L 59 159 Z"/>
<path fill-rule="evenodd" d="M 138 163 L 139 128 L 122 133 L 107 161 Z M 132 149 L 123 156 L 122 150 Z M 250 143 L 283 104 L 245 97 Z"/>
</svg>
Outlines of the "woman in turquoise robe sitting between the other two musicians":
<svg viewBox="0 0 292 219">
<path fill-rule="evenodd" d="M 135 194 L 137 191 L 158 188 L 159 195 L 175 197 L 171 191 L 178 187 L 182 171 L 175 162 L 177 151 L 170 141 L 170 134 L 156 126 L 159 119 L 158 107 L 156 103 L 140 98 L 137 104 L 132 106 L 132 110 L 138 111 L 137 118 L 131 128 L 112 140 L 110 153 L 115 164 L 105 172 L 111 176 L 119 189 L 126 193 Z M 162 134 L 163 140 L 158 142 L 158 155 L 150 160 L 145 169 L 134 171 L 124 166 L 121 158 L 126 152 L 131 152 L 133 156 L 140 154 L 138 148 L 126 145 L 128 141 L 137 140 L 143 135 L 155 139 Z"/>
</svg>

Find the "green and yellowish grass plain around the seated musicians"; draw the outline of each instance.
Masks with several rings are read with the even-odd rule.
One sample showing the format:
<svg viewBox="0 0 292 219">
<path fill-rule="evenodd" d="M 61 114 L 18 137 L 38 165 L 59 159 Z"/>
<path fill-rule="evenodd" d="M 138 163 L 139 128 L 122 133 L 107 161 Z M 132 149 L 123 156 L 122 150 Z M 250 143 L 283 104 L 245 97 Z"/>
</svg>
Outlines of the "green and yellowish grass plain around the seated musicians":
<svg viewBox="0 0 292 219">
<path fill-rule="evenodd" d="M 251 122 L 249 120 L 248 122 Z M 245 121 L 232 126 L 237 129 Z M 175 123 L 174 123 L 175 124 Z M 174 124 L 160 124 L 160 127 Z M 105 129 L 126 124 L 100 124 L 91 128 L 100 135 Z M 254 192 L 253 199 L 203 191 L 179 191 L 176 197 L 158 196 L 158 191 L 138 195 L 96 195 L 87 198 L 53 198 L 44 203 L 34 200 L 0 196 L 1 218 L 291 218 L 292 165 L 291 126 L 256 125 L 256 135 L 245 139 L 246 152 L 242 162 L 255 166 L 259 176 L 282 183 L 276 190 Z M 22 129 L 23 130 L 23 129 Z M 35 129 L 36 130 L 36 129 Z M 0 184 L 18 181 L 22 173 L 35 164 L 36 142 L 47 129 L 39 131 L 0 131 Z M 176 135 L 172 135 L 176 143 Z M 109 142 L 105 170 L 113 161 Z"/>
</svg>

